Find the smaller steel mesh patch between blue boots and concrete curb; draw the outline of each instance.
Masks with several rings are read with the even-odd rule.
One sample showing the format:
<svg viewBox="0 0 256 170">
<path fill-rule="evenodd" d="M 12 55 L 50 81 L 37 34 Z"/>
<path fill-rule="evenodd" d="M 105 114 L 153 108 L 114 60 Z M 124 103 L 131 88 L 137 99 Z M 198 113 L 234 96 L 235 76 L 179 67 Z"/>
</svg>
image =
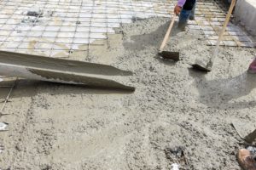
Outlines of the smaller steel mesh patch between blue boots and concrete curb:
<svg viewBox="0 0 256 170">
<path fill-rule="evenodd" d="M 218 32 L 221 30 L 227 8 L 219 1 L 198 2 L 195 12 L 195 20 L 189 20 L 189 28 L 202 30 L 207 37 L 208 45 L 216 45 Z M 229 47 L 256 47 L 254 37 L 247 34 L 241 26 L 235 26 L 231 22 L 224 33 L 223 41 L 220 43 Z"/>
</svg>

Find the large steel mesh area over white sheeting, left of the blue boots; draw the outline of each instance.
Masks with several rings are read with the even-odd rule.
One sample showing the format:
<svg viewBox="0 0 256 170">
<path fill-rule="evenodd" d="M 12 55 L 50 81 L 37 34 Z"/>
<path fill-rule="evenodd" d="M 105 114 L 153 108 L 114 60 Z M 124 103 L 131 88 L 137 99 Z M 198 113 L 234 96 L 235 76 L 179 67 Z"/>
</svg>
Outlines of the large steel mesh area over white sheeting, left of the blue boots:
<svg viewBox="0 0 256 170">
<path fill-rule="evenodd" d="M 169 16 L 169 2 L 3 0 L 0 3 L 0 50 L 68 57 L 89 51 L 114 28 L 137 18 Z M 98 44 L 99 45 L 99 44 Z"/>
</svg>

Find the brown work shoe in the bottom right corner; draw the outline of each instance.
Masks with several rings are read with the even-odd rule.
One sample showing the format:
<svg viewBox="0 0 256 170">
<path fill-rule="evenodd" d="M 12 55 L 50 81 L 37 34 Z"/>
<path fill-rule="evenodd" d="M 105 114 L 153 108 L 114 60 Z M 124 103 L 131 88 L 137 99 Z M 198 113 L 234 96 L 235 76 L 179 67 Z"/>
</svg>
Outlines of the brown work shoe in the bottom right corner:
<svg viewBox="0 0 256 170">
<path fill-rule="evenodd" d="M 239 150 L 237 154 L 237 161 L 244 170 L 256 170 L 256 156 L 253 156 L 250 150 Z"/>
</svg>

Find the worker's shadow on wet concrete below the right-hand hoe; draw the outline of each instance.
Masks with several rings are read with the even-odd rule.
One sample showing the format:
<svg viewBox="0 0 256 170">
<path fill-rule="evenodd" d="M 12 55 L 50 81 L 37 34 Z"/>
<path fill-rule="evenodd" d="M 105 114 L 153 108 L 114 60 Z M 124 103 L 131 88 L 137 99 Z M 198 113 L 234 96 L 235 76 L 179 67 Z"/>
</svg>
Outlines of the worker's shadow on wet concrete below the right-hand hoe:
<svg viewBox="0 0 256 170">
<path fill-rule="evenodd" d="M 205 74 L 189 69 L 195 78 L 195 87 L 200 94 L 200 102 L 220 110 L 237 110 L 256 105 L 256 101 L 231 101 L 250 94 L 256 87 L 255 75 L 243 72 L 236 77 L 207 81 Z"/>
</svg>

